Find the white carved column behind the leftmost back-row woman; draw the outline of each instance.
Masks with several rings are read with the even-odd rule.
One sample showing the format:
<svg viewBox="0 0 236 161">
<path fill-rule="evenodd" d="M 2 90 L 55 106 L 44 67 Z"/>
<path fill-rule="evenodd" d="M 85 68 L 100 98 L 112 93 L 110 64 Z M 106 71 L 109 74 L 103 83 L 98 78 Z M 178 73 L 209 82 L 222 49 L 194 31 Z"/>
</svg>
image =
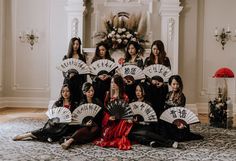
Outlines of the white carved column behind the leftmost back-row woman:
<svg viewBox="0 0 236 161">
<path fill-rule="evenodd" d="M 83 42 L 83 13 L 85 11 L 84 0 L 67 0 L 65 10 L 67 12 L 68 41 L 72 37 L 80 37 Z"/>
</svg>

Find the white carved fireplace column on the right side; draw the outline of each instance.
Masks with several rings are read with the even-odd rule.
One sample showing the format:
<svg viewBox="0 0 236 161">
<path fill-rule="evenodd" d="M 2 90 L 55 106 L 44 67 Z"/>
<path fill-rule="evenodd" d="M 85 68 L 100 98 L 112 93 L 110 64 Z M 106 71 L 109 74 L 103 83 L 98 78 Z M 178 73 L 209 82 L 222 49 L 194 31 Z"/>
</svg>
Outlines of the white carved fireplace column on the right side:
<svg viewBox="0 0 236 161">
<path fill-rule="evenodd" d="M 160 0 L 161 40 L 171 61 L 174 74 L 178 74 L 179 57 L 179 13 L 183 7 L 179 0 Z"/>
</svg>

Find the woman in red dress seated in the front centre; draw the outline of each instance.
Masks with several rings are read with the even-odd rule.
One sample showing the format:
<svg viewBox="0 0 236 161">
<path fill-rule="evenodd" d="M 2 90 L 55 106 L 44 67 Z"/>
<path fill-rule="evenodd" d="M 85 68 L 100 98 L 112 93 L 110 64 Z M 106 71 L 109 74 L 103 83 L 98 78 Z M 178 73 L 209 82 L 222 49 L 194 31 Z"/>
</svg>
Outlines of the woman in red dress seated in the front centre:
<svg viewBox="0 0 236 161">
<path fill-rule="evenodd" d="M 124 93 L 124 82 L 120 75 L 114 75 L 111 80 L 111 90 L 107 92 L 104 104 L 105 107 L 109 101 L 123 99 L 129 102 L 128 96 Z M 121 150 L 129 150 L 131 148 L 128 134 L 132 128 L 132 121 L 117 119 L 111 116 L 105 108 L 104 118 L 102 120 L 101 138 L 95 141 L 95 144 L 102 147 L 116 147 Z"/>
</svg>

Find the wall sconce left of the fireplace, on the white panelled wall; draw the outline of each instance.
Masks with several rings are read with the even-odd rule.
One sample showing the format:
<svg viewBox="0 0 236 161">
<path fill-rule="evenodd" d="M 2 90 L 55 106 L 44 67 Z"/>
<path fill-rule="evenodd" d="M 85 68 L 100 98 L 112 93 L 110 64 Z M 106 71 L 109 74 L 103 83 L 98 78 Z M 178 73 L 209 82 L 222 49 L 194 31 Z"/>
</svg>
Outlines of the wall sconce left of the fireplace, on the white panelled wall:
<svg viewBox="0 0 236 161">
<path fill-rule="evenodd" d="M 19 39 L 21 42 L 29 43 L 30 49 L 33 50 L 33 46 L 36 42 L 38 42 L 39 37 L 37 33 L 31 30 L 31 32 L 20 32 Z"/>
</svg>

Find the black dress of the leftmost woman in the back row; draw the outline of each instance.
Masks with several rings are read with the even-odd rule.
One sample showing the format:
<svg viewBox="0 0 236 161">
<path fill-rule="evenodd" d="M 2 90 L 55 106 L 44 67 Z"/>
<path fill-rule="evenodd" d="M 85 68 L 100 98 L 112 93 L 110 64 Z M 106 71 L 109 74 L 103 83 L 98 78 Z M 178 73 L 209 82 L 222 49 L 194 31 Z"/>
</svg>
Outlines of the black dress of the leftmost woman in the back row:
<svg viewBox="0 0 236 161">
<path fill-rule="evenodd" d="M 63 60 L 67 59 L 67 56 L 65 55 L 63 57 Z M 86 60 L 84 57 L 80 58 L 83 62 L 86 63 Z M 72 77 L 70 77 L 70 74 L 73 74 Z M 69 70 L 68 72 L 63 72 L 64 76 L 64 84 L 68 84 L 71 90 L 71 100 L 73 102 L 80 102 L 82 99 L 82 85 L 87 81 L 87 75 L 81 75 L 76 70 Z"/>
</svg>

